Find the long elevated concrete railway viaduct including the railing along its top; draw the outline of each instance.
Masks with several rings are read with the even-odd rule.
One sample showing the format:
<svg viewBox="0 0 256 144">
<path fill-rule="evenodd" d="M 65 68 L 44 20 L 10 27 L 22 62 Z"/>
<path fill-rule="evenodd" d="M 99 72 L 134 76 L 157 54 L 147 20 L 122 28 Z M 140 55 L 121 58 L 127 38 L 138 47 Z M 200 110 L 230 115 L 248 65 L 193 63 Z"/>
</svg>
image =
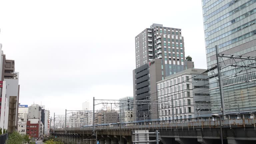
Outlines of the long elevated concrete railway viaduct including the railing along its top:
<svg viewBox="0 0 256 144">
<path fill-rule="evenodd" d="M 256 143 L 255 114 L 228 115 L 226 120 L 221 121 L 224 143 Z M 159 140 L 163 144 L 171 142 L 220 143 L 220 122 L 219 119 L 213 117 L 95 126 L 100 144 L 119 142 L 120 135 L 122 142 L 130 144 L 132 131 L 144 129 L 159 130 Z M 81 143 L 89 137 L 92 138 L 92 130 L 93 126 L 85 126 L 57 128 L 52 132 L 63 140 Z M 95 139 L 96 135 L 93 137 Z M 152 135 L 153 137 L 155 136 Z"/>
</svg>

